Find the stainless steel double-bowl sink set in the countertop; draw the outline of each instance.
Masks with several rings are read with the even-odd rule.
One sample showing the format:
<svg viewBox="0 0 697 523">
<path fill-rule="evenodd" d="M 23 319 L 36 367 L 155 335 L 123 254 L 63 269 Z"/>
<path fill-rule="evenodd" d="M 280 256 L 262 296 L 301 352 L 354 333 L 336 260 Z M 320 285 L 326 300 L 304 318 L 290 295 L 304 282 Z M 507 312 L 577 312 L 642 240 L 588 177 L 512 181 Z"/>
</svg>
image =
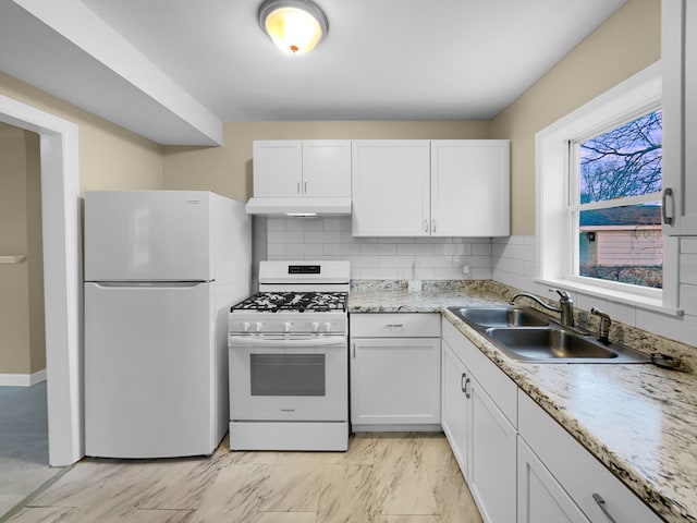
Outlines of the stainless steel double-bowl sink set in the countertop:
<svg viewBox="0 0 697 523">
<path fill-rule="evenodd" d="M 513 360 L 526 363 L 649 363 L 634 349 L 602 342 L 524 307 L 450 307 Z"/>
</svg>

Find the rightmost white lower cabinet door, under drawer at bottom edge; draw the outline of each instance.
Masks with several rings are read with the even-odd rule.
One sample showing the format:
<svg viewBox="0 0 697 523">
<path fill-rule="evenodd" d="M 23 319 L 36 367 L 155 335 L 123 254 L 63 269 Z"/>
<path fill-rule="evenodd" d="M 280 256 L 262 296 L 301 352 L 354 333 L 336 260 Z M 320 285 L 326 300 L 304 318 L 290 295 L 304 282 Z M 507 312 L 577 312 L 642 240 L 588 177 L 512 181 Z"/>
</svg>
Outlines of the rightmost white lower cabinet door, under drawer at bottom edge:
<svg viewBox="0 0 697 523">
<path fill-rule="evenodd" d="M 518 437 L 517 523 L 589 523 L 542 462 Z"/>
</svg>

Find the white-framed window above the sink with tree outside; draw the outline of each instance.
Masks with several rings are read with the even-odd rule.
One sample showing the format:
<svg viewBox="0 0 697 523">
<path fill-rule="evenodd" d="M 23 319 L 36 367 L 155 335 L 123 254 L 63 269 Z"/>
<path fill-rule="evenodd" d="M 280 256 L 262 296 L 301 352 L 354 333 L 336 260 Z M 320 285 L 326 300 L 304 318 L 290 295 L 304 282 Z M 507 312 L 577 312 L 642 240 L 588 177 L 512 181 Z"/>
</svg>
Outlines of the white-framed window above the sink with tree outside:
<svg viewBox="0 0 697 523">
<path fill-rule="evenodd" d="M 680 314 L 661 233 L 660 63 L 536 135 L 538 279 Z"/>
</svg>

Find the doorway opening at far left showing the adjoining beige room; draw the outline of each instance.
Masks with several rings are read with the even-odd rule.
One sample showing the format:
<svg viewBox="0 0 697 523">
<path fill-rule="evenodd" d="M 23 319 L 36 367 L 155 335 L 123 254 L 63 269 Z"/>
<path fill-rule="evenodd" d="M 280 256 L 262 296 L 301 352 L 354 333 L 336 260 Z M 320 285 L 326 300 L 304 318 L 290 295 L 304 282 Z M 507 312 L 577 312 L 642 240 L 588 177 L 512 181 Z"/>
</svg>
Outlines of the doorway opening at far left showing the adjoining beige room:
<svg viewBox="0 0 697 523">
<path fill-rule="evenodd" d="M 0 122 L 0 516 L 52 477 L 39 136 Z"/>
</svg>

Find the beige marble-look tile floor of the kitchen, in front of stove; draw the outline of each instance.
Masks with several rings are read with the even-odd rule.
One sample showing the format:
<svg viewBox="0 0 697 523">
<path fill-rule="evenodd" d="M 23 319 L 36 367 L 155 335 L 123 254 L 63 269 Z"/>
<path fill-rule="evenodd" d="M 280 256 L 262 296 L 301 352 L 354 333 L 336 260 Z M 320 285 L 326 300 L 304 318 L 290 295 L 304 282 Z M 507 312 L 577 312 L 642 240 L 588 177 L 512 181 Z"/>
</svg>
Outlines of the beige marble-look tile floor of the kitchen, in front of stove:
<svg viewBox="0 0 697 523">
<path fill-rule="evenodd" d="M 12 523 L 480 523 L 442 434 L 357 434 L 347 452 L 84 459 Z"/>
</svg>

